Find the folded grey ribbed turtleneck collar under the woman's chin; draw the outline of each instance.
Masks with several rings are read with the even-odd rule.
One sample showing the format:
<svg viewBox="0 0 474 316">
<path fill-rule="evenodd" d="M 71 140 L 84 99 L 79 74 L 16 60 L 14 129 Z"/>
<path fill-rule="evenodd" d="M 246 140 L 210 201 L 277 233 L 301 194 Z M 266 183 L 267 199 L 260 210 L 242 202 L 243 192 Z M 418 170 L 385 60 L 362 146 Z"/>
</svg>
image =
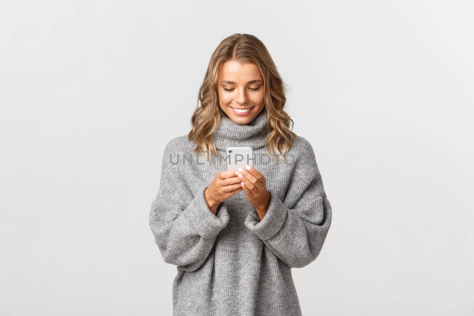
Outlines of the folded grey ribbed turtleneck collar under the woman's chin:
<svg viewBox="0 0 474 316">
<path fill-rule="evenodd" d="M 267 120 L 266 108 L 247 124 L 237 124 L 227 116 L 221 117 L 219 127 L 214 132 L 216 149 L 226 151 L 227 147 L 263 147 L 267 136 Z"/>
</svg>

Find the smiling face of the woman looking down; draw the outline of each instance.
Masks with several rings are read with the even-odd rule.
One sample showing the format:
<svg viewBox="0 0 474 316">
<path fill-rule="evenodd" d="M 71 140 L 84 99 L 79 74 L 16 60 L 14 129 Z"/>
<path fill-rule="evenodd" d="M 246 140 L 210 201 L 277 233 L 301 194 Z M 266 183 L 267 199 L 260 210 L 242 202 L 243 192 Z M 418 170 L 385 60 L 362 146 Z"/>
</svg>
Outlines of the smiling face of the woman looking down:
<svg viewBox="0 0 474 316">
<path fill-rule="evenodd" d="M 264 108 L 264 81 L 255 63 L 227 61 L 219 68 L 219 106 L 237 124 L 247 124 Z"/>
</svg>

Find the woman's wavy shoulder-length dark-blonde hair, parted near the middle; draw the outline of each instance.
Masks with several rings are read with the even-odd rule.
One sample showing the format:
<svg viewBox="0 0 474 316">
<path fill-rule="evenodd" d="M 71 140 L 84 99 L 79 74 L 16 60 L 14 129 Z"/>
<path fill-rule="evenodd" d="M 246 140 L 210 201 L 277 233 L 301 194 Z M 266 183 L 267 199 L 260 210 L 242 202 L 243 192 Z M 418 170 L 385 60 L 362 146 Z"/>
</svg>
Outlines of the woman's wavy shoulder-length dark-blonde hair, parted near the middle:
<svg viewBox="0 0 474 316">
<path fill-rule="evenodd" d="M 213 133 L 219 127 L 221 117 L 227 116 L 219 106 L 218 74 L 220 65 L 230 60 L 258 66 L 264 80 L 264 101 L 268 116 L 265 149 L 273 159 L 273 153 L 276 153 L 284 160 L 283 155 L 292 144 L 292 136 L 296 137 L 292 132 L 293 120 L 283 109 L 287 85 L 262 41 L 253 35 L 240 33 L 222 40 L 210 58 L 199 90 L 198 103 L 191 117 L 192 128 L 188 139 L 197 144 L 193 152 L 204 151 L 217 156 Z M 211 155 L 207 156 L 210 161 Z"/>
</svg>

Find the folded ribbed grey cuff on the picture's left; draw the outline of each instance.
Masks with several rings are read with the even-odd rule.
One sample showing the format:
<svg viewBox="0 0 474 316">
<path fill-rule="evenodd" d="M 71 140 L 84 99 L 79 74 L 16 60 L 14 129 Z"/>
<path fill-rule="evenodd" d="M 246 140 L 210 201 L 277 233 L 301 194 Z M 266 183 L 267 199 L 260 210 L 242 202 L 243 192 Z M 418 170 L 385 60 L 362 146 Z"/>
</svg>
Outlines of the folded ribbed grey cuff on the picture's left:
<svg viewBox="0 0 474 316">
<path fill-rule="evenodd" d="M 194 197 L 188 207 L 184 210 L 186 217 L 194 227 L 196 232 L 203 238 L 214 238 L 227 226 L 229 214 L 225 202 L 220 203 L 217 208 L 217 215 L 214 215 L 207 205 L 203 188 Z"/>
</svg>

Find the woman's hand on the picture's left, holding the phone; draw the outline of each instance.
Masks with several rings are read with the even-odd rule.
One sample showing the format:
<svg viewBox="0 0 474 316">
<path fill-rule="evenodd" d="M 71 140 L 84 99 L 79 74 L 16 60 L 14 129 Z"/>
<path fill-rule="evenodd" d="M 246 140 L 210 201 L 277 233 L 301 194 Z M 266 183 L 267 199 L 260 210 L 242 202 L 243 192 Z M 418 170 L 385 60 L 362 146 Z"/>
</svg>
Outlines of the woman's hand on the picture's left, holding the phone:
<svg viewBox="0 0 474 316">
<path fill-rule="evenodd" d="M 214 180 L 204 190 L 204 197 L 214 215 L 216 215 L 220 203 L 243 190 L 240 182 L 235 171 L 221 171 L 216 174 Z"/>
</svg>

